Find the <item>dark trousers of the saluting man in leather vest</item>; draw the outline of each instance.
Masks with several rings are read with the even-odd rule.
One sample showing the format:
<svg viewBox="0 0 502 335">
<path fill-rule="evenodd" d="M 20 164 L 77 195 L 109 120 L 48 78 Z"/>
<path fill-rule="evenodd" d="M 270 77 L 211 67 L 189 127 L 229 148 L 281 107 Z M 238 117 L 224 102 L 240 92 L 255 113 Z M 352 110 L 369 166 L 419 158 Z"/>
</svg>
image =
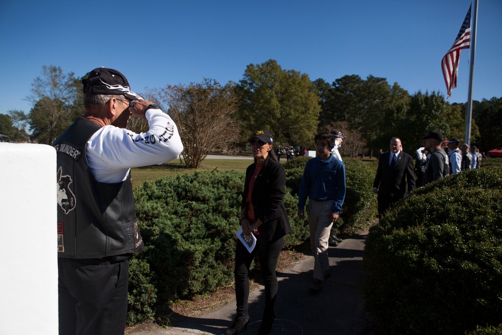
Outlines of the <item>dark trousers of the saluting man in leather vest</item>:
<svg viewBox="0 0 502 335">
<path fill-rule="evenodd" d="M 126 328 L 129 260 L 58 258 L 59 334 L 120 334 Z"/>
</svg>

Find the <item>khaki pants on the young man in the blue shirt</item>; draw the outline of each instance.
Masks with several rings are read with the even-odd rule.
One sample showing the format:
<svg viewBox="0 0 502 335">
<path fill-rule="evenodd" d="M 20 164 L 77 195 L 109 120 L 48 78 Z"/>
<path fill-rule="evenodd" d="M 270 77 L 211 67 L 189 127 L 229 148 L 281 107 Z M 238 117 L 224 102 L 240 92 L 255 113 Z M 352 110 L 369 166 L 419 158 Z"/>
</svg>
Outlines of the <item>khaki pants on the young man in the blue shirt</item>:
<svg viewBox="0 0 502 335">
<path fill-rule="evenodd" d="M 310 247 L 314 255 L 314 278 L 324 280 L 329 269 L 328 240 L 331 231 L 331 206 L 333 200 L 309 200 L 307 207 L 310 227 Z"/>
</svg>

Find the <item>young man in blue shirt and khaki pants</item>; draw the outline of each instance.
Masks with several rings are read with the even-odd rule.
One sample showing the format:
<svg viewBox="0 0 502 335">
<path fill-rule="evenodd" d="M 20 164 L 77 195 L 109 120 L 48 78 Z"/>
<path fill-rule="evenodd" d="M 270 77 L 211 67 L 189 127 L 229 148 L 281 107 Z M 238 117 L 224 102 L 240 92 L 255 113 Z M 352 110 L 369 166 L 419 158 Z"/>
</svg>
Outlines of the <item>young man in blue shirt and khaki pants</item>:
<svg viewBox="0 0 502 335">
<path fill-rule="evenodd" d="M 335 138 L 330 133 L 314 137 L 317 157 L 305 164 L 298 192 L 298 216 L 305 217 L 305 203 L 310 227 L 310 246 L 314 255 L 314 276 L 309 289 L 319 291 L 329 275 L 328 240 L 333 222 L 338 220 L 345 199 L 345 167 L 331 154 Z"/>
</svg>

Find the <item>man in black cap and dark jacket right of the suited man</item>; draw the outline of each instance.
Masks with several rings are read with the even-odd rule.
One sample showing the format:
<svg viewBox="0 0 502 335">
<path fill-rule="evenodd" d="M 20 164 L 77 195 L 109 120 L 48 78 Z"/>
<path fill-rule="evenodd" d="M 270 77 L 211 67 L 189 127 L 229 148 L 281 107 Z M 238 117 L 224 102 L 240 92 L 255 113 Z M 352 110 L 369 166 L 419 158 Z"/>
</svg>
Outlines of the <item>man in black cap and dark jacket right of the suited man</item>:
<svg viewBox="0 0 502 335">
<path fill-rule="evenodd" d="M 422 185 L 425 185 L 431 181 L 447 176 L 449 164 L 446 152 L 441 149 L 441 143 L 444 141 L 443 134 L 436 131 L 430 132 L 423 137 L 423 140 L 424 147 L 431 153 L 424 178 L 422 179 Z"/>
</svg>

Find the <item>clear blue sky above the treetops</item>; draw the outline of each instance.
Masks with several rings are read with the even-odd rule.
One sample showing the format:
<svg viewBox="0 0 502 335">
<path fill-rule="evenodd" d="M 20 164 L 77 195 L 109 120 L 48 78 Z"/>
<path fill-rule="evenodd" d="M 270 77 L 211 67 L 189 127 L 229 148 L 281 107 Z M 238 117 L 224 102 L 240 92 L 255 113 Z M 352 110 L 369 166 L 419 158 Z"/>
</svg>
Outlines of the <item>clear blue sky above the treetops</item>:
<svg viewBox="0 0 502 335">
<path fill-rule="evenodd" d="M 249 64 L 322 78 L 385 77 L 446 97 L 441 59 L 469 0 L 0 0 L 0 113 L 29 112 L 43 65 L 81 77 L 115 68 L 143 93 L 167 84 L 242 79 Z M 467 100 L 470 51 L 450 102 Z M 502 96 L 502 0 L 479 0 L 473 97 Z"/>
</svg>

